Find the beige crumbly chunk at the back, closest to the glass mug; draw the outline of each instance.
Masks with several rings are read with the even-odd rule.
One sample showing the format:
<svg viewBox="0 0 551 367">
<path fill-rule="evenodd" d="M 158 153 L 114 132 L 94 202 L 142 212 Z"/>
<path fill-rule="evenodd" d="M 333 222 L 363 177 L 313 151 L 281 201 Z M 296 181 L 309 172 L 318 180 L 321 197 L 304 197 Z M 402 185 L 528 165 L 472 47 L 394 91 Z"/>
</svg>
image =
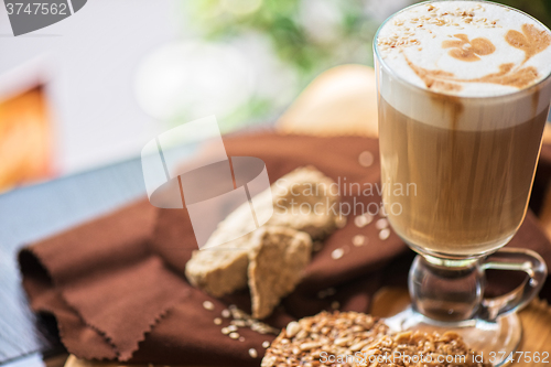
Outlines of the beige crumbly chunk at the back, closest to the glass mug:
<svg viewBox="0 0 551 367">
<path fill-rule="evenodd" d="M 312 165 L 285 174 L 271 190 L 273 215 L 268 225 L 290 227 L 321 239 L 344 220 L 338 213 L 336 183 Z"/>
</svg>

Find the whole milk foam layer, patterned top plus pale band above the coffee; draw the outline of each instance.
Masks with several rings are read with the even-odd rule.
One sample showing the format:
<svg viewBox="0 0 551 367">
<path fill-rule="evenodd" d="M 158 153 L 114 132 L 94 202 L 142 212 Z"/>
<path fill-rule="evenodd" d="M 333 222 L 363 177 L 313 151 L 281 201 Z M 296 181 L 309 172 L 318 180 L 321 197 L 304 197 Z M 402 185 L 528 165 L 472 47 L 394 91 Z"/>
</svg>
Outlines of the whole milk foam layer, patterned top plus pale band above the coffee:
<svg viewBox="0 0 551 367">
<path fill-rule="evenodd" d="M 519 47 L 514 36 L 529 47 Z M 381 97 L 402 114 L 443 128 L 453 123 L 460 130 L 491 130 L 521 123 L 549 107 L 551 86 L 536 95 L 512 95 L 551 74 L 551 45 L 533 45 L 547 37 L 551 32 L 534 19 L 490 2 L 433 1 L 407 8 L 381 26 L 376 40 L 381 63 L 391 71 L 379 73 Z M 467 97 L 461 100 L 468 106 L 457 121 L 449 106 L 401 80 Z M 471 98 L 499 96 L 510 102 Z"/>
</svg>

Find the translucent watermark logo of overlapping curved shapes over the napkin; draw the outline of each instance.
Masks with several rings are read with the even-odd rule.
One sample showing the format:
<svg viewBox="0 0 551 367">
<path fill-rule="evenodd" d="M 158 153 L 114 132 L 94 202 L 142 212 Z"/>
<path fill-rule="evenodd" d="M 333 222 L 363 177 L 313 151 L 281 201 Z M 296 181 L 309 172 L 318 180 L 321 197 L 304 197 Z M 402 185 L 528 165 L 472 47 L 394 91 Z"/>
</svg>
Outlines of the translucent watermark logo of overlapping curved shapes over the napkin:
<svg viewBox="0 0 551 367">
<path fill-rule="evenodd" d="M 253 156 L 228 156 L 214 116 L 152 139 L 141 151 L 141 164 L 150 203 L 185 208 L 199 249 L 250 234 L 273 214 L 264 163 Z M 233 213 L 239 214 L 238 223 L 213 237 Z"/>
</svg>

